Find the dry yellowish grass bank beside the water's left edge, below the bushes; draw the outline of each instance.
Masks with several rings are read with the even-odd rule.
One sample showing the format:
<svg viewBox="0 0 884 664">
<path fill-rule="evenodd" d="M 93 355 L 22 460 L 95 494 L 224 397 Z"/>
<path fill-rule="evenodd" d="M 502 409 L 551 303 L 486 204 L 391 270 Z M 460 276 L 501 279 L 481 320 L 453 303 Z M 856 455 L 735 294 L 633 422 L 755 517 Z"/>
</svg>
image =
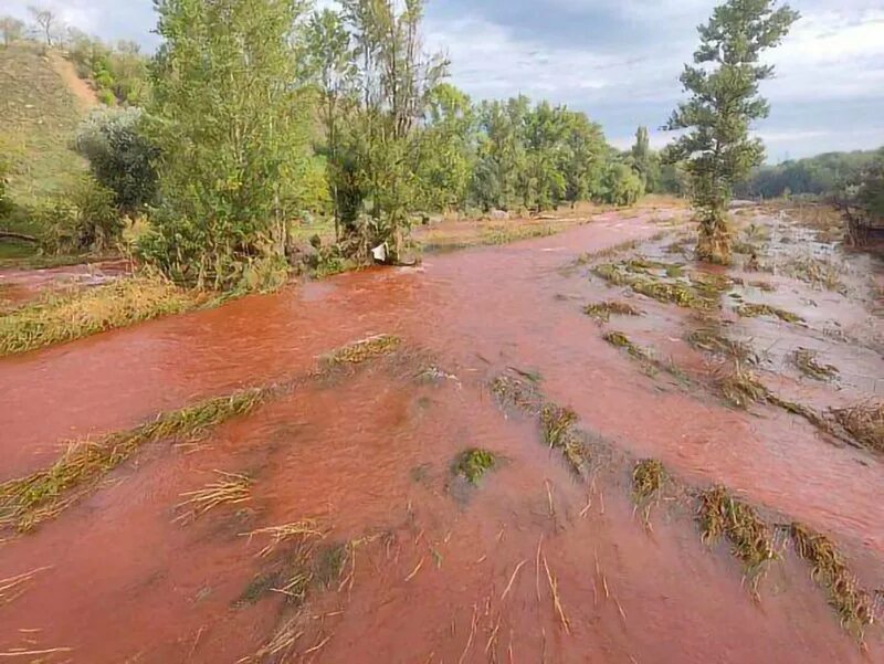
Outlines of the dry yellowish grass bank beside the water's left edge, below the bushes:
<svg viewBox="0 0 884 664">
<path fill-rule="evenodd" d="M 49 294 L 0 318 L 0 356 L 27 352 L 196 308 L 199 299 L 156 278 L 122 278 Z"/>
</svg>

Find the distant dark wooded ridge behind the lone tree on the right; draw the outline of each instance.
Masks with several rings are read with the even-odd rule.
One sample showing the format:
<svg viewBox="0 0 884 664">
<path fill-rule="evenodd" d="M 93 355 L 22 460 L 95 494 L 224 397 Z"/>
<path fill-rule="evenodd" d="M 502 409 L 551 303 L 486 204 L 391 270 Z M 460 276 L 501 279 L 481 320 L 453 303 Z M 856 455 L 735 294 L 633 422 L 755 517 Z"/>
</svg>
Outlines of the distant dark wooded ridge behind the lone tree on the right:
<svg viewBox="0 0 884 664">
<path fill-rule="evenodd" d="M 735 194 L 738 198 L 833 194 L 859 185 L 877 158 L 880 150 L 857 150 L 762 166 L 735 188 Z"/>
</svg>

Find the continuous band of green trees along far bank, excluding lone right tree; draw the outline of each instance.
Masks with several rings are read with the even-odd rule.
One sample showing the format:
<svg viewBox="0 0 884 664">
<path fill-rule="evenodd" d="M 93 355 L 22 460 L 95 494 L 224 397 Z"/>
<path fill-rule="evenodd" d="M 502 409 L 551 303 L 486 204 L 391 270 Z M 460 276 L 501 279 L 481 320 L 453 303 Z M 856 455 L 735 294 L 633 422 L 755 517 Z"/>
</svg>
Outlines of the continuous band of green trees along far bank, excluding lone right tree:
<svg viewBox="0 0 884 664">
<path fill-rule="evenodd" d="M 63 43 L 103 101 L 122 106 L 93 114 L 77 136 L 92 180 L 34 211 L 62 229 L 59 251 L 107 245 L 120 215 L 141 215 L 143 260 L 179 282 L 230 288 L 284 275 L 306 214 L 334 218 L 336 255 L 396 261 L 428 213 L 684 191 L 645 128 L 620 152 L 583 113 L 524 96 L 473 101 L 451 85 L 446 59 L 422 42 L 423 0 L 155 8 L 161 44 L 150 60 L 76 31 L 62 40 L 53 15 L 42 23 L 46 45 Z"/>
</svg>

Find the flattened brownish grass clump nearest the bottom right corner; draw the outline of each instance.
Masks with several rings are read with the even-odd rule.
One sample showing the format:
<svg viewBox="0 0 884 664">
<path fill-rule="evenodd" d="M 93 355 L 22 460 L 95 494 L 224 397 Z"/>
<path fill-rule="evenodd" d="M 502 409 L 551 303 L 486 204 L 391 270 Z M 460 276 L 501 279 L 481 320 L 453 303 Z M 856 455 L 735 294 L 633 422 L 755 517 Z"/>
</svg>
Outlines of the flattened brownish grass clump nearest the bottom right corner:
<svg viewBox="0 0 884 664">
<path fill-rule="evenodd" d="M 871 597 L 860 588 L 832 540 L 801 524 L 792 524 L 790 533 L 796 551 L 811 566 L 811 577 L 829 592 L 841 626 L 862 641 L 865 628 L 875 621 Z"/>
</svg>

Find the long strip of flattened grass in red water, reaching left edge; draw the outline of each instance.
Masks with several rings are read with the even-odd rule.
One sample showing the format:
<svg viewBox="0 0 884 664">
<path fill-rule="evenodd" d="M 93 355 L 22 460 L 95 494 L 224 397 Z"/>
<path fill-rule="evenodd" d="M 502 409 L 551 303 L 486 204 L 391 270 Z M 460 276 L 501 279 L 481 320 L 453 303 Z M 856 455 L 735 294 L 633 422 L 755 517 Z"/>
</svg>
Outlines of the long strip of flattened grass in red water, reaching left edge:
<svg viewBox="0 0 884 664">
<path fill-rule="evenodd" d="M 199 436 L 211 426 L 252 411 L 269 393 L 267 389 L 250 389 L 210 399 L 162 413 L 152 422 L 109 434 L 96 442 L 72 444 L 50 467 L 0 484 L 0 528 L 32 529 L 57 516 L 141 445 Z"/>
</svg>

